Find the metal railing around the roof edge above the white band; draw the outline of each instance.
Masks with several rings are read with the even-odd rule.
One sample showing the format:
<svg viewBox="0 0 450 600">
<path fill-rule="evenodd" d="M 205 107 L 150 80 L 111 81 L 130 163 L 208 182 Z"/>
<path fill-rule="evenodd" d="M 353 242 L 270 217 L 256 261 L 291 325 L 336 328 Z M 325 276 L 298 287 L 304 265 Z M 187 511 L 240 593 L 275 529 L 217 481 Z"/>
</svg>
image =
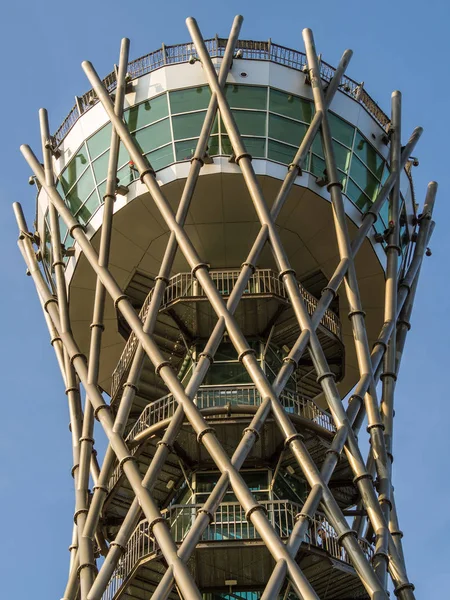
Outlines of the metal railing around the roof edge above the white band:
<svg viewBox="0 0 450 600">
<path fill-rule="evenodd" d="M 216 37 L 205 40 L 211 58 L 223 57 L 226 43 L 226 38 Z M 303 52 L 279 46 L 270 40 L 266 42 L 240 40 L 236 44 L 236 50 L 242 51 L 243 59 L 271 61 L 297 71 L 303 71 L 306 65 L 306 55 Z M 146 75 L 147 73 L 151 73 L 152 71 L 156 71 L 167 65 L 186 63 L 189 61 L 189 58 L 195 54 L 196 51 L 192 42 L 177 44 L 175 46 L 162 46 L 158 50 L 130 62 L 128 64 L 128 73 L 130 74 L 131 79 L 136 79 L 137 77 L 142 77 L 142 75 Z M 333 77 L 335 68 L 328 63 L 321 61 L 320 73 L 322 79 L 328 82 Z M 103 83 L 108 91 L 112 92 L 117 84 L 115 71 L 109 73 L 103 79 Z M 365 91 L 363 84 L 344 75 L 341 80 L 340 90 L 347 96 L 350 96 L 359 102 L 382 127 L 387 128 L 389 126 L 390 120 L 388 116 Z M 72 108 L 53 136 L 55 143 L 60 144 L 81 115 L 92 108 L 97 102 L 98 99 L 93 90 L 89 90 L 89 92 L 86 92 L 83 96 L 77 98 L 76 105 Z"/>
</svg>

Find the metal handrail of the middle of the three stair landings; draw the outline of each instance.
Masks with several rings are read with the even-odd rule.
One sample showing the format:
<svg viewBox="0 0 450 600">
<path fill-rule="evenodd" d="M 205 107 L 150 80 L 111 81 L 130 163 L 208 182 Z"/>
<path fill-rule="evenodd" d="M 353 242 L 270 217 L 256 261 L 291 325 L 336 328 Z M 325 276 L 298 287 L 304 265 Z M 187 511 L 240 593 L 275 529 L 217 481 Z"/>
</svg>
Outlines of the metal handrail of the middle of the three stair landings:
<svg viewBox="0 0 450 600">
<path fill-rule="evenodd" d="M 194 402 L 200 410 L 216 406 L 260 406 L 262 399 L 255 386 L 202 386 L 199 388 Z M 324 412 L 310 398 L 299 393 L 283 391 L 280 402 L 286 412 L 314 421 L 331 433 L 336 432 L 336 427 L 330 415 Z M 169 419 L 175 413 L 177 402 L 172 394 L 167 394 L 148 404 L 130 430 L 127 442 L 132 442 L 138 434 L 152 425 Z"/>
</svg>

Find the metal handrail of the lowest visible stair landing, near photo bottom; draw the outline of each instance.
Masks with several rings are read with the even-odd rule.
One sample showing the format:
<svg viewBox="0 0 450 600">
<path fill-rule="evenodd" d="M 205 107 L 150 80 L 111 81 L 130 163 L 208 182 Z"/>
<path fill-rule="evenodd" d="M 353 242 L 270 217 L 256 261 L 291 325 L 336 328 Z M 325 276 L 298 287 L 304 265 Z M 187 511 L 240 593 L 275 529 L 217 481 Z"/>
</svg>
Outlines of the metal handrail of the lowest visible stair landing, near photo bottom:
<svg viewBox="0 0 450 600">
<path fill-rule="evenodd" d="M 296 516 L 302 511 L 302 506 L 288 500 L 262 501 L 260 504 L 266 509 L 267 517 L 277 534 L 282 539 L 288 538 L 294 528 Z M 202 504 L 174 505 L 163 511 L 175 542 L 183 541 L 202 506 Z M 246 519 L 245 511 L 238 502 L 220 504 L 214 515 L 214 521 L 208 525 L 201 537 L 202 542 L 239 542 L 258 539 L 260 539 L 258 532 Z M 358 541 L 370 561 L 374 553 L 372 546 L 364 539 L 360 538 Z M 309 522 L 303 543 L 320 548 L 333 558 L 351 565 L 346 550 L 339 544 L 336 531 L 321 515 L 316 514 L 316 517 Z M 138 562 L 157 553 L 158 546 L 152 537 L 149 523 L 143 520 L 132 533 L 102 600 L 112 600 Z"/>
</svg>

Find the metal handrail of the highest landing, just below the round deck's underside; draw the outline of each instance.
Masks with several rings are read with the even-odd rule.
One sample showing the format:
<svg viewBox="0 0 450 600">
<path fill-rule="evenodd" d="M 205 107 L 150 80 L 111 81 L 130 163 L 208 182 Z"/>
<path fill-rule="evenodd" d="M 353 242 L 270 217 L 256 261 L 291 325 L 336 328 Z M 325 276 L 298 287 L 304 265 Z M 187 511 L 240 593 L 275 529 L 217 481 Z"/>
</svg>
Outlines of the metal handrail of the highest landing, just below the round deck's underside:
<svg viewBox="0 0 450 600">
<path fill-rule="evenodd" d="M 215 283 L 219 292 L 227 297 L 230 295 L 231 290 L 236 284 L 240 274 L 239 269 L 229 270 L 211 270 L 211 279 Z M 305 301 L 308 313 L 312 315 L 316 310 L 318 300 L 312 294 L 310 294 L 300 283 L 299 289 L 303 300 Z M 271 296 L 278 296 L 286 302 L 289 301 L 288 295 L 284 288 L 283 282 L 280 281 L 279 277 L 271 269 L 256 269 L 254 274 L 250 277 L 247 287 L 244 290 L 243 296 L 252 295 L 264 295 L 269 294 Z M 152 290 L 150 290 L 147 298 L 142 305 L 139 312 L 139 317 L 144 322 L 148 307 L 151 301 Z M 192 273 L 178 273 L 169 280 L 169 284 L 164 293 L 164 298 L 161 303 L 161 309 L 168 308 L 174 302 L 181 300 L 182 298 L 206 298 L 206 294 L 202 287 L 192 275 Z M 321 324 L 333 333 L 339 340 L 341 337 L 341 324 L 337 315 L 331 310 L 327 309 L 324 316 L 322 317 Z M 116 393 L 120 388 L 122 379 L 131 364 L 134 352 L 137 347 L 137 338 L 134 333 L 131 333 L 127 343 L 123 349 L 122 355 L 117 363 L 116 368 L 112 374 L 111 384 L 111 398 L 114 399 Z"/>
</svg>

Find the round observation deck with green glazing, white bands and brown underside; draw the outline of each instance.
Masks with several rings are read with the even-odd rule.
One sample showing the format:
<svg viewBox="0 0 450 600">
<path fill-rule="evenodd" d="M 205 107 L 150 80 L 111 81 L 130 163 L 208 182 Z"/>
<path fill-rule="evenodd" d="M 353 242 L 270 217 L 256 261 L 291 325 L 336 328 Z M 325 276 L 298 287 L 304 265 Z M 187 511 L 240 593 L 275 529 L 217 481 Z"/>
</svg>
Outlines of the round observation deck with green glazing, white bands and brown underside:
<svg viewBox="0 0 450 600">
<path fill-rule="evenodd" d="M 207 42 L 217 67 L 225 43 L 221 38 Z M 239 41 L 237 49 L 240 58 L 233 62 L 226 95 L 270 206 L 314 114 L 311 89 L 303 72 L 305 55 L 271 42 Z M 158 182 L 173 209 L 178 205 L 210 98 L 201 65 L 189 62 L 193 56 L 192 44 L 165 47 L 131 62 L 128 67 L 124 119 L 156 170 Z M 323 79 L 329 81 L 333 73 L 334 69 L 322 61 Z M 108 75 L 104 81 L 113 94 L 115 74 Z M 389 121 L 363 87 L 346 76 L 332 102 L 330 119 L 352 235 L 389 175 L 386 145 Z M 85 227 L 94 247 L 98 247 L 101 231 L 110 132 L 106 113 L 91 91 L 78 99 L 54 136 L 57 189 Z M 259 223 L 239 167 L 233 162 L 229 138 L 220 118 L 213 126 L 208 156 L 210 159 L 201 170 L 185 230 L 211 268 L 236 269 L 245 260 Z M 401 179 L 403 258 L 400 268 L 409 260 L 415 217 L 408 174 L 405 170 Z M 47 207 L 47 196 L 41 190 L 37 222 L 43 240 L 43 264 L 51 280 Z M 133 286 L 139 278 L 145 280 L 146 287 L 141 286 L 145 297 L 154 285 L 168 230 L 122 145 L 114 211 L 111 271 L 124 288 Z M 387 229 L 387 219 L 386 204 L 356 261 L 372 342 L 382 322 L 384 301 L 381 285 L 384 243 L 376 241 L 376 234 Z M 277 226 L 299 281 L 304 282 L 306 289 L 308 279 L 325 282 L 337 264 L 338 254 L 320 136 L 302 166 Z M 66 278 L 73 330 L 81 349 L 87 351 L 89 329 L 86 325 L 92 316 L 95 277 L 62 221 L 60 227 L 67 254 Z M 181 273 L 187 266 L 179 254 L 173 272 Z M 268 248 L 261 254 L 258 267 L 276 269 Z M 320 297 L 320 286 L 310 287 L 309 291 Z M 131 299 L 136 300 L 133 296 Z M 139 310 L 142 300 L 134 304 Z M 347 312 L 346 302 L 342 300 L 338 307 L 341 337 L 344 346 L 347 341 L 351 343 L 345 355 L 341 392 L 348 391 L 357 377 Z M 105 319 L 111 326 L 103 337 L 100 385 L 111 394 L 114 393 L 111 373 L 123 352 L 124 342 L 117 326 L 114 331 L 117 315 L 109 300 Z"/>
</svg>

